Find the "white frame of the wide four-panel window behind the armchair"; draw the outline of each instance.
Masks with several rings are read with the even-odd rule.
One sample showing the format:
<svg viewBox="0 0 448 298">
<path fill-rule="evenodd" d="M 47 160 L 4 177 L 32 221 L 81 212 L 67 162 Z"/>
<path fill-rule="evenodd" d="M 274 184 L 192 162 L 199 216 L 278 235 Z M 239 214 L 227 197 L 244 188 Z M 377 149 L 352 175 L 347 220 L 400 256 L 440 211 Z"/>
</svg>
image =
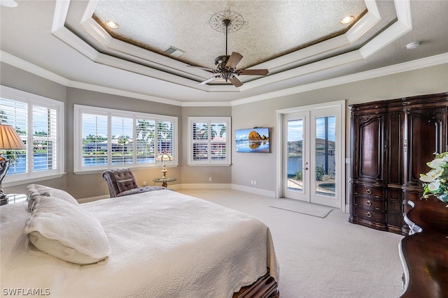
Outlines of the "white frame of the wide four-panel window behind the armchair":
<svg viewBox="0 0 448 298">
<path fill-rule="evenodd" d="M 133 140 L 137 140 L 137 119 L 144 119 L 155 121 L 155 126 L 157 126 L 158 121 L 170 121 L 173 124 L 173 161 L 169 161 L 167 163 L 167 167 L 176 167 L 179 164 L 179 150 L 178 150 L 178 117 L 175 116 L 167 116 L 160 114 L 149 114 L 142 112 L 132 112 L 125 110 L 116 110 L 110 109 L 106 107 L 92 107 L 88 105 L 74 105 L 73 107 L 73 172 L 75 174 L 89 174 L 92 172 L 100 172 L 104 170 L 108 170 L 116 167 L 130 167 L 130 168 L 148 168 L 148 167 L 160 167 L 160 163 L 137 163 L 135 160 L 135 155 L 137 154 L 137 144 L 133 142 L 133 161 L 132 163 L 123 163 L 123 164 L 112 164 L 111 159 L 108 156 L 108 163 L 106 165 L 94 165 L 94 166 L 83 166 L 83 135 L 82 135 L 82 117 L 83 114 L 95 114 L 102 115 L 107 117 L 108 121 L 108 135 L 111 135 L 112 127 L 111 127 L 111 119 L 112 117 L 123 117 L 123 118 L 132 118 L 132 138 Z M 111 142 L 108 140 L 108 147 L 111 147 Z M 155 154 L 155 157 L 157 154 Z"/>
</svg>

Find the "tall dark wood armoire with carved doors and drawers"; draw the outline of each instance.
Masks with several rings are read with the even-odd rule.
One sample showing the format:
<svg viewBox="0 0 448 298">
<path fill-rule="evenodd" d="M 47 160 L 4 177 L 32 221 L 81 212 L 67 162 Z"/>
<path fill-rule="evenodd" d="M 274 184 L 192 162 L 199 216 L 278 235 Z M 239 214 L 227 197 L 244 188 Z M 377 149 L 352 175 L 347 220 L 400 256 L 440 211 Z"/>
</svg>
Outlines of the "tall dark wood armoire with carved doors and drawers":
<svg viewBox="0 0 448 298">
<path fill-rule="evenodd" d="M 407 234 L 408 200 L 423 193 L 421 173 L 448 151 L 448 92 L 379 100 L 351 111 L 351 223 Z"/>
</svg>

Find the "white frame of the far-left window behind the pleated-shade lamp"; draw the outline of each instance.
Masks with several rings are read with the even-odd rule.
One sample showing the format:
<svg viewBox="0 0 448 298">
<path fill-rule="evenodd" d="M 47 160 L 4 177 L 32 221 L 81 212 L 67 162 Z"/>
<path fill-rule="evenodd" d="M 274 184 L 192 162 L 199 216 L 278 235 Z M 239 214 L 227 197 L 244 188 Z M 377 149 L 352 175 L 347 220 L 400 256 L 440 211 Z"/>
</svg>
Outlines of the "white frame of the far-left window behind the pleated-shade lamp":
<svg viewBox="0 0 448 298">
<path fill-rule="evenodd" d="M 52 98 L 47 98 L 45 96 L 39 96 L 36 94 L 31 94 L 26 91 L 13 89 L 10 87 L 6 87 L 0 85 L 1 98 L 8 100 L 15 100 L 20 103 L 24 103 L 27 105 L 27 170 L 25 173 L 19 174 L 6 174 L 6 177 L 3 180 L 3 186 L 15 186 L 20 184 L 28 184 L 35 181 L 41 181 L 43 179 L 55 179 L 62 177 L 65 174 L 64 172 L 64 102 L 60 100 L 55 100 Z M 45 107 L 56 110 L 56 168 L 51 170 L 39 170 L 33 171 L 33 151 L 34 147 L 32 146 L 34 140 L 34 131 L 33 131 L 33 106 L 37 107 Z M 31 132 L 31 133 L 29 133 Z M 31 146 L 30 146 L 31 144 Z"/>
</svg>

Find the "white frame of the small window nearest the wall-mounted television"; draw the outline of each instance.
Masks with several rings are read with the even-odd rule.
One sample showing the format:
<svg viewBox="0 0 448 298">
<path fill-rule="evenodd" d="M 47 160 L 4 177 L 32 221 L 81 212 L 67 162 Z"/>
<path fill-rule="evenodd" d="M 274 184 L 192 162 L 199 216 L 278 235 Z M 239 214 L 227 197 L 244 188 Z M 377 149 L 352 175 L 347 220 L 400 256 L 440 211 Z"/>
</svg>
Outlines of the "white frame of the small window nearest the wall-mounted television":
<svg viewBox="0 0 448 298">
<path fill-rule="evenodd" d="M 226 124 L 225 131 L 225 160 L 214 160 L 209 155 L 207 161 L 193 160 L 193 124 L 207 123 L 209 127 L 211 124 Z M 207 137 L 207 142 L 211 144 L 210 134 Z M 229 166 L 232 165 L 232 118 L 231 117 L 188 117 L 188 165 L 190 166 Z"/>
</svg>

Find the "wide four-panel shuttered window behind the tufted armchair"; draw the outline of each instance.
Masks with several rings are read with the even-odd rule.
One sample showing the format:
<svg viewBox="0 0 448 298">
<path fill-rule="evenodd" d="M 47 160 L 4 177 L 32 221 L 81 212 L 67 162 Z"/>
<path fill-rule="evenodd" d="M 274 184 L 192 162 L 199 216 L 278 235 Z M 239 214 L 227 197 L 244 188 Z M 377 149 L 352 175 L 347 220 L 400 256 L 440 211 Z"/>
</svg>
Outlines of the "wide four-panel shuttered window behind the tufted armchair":
<svg viewBox="0 0 448 298">
<path fill-rule="evenodd" d="M 75 172 L 177 163 L 177 117 L 75 105 Z"/>
</svg>

